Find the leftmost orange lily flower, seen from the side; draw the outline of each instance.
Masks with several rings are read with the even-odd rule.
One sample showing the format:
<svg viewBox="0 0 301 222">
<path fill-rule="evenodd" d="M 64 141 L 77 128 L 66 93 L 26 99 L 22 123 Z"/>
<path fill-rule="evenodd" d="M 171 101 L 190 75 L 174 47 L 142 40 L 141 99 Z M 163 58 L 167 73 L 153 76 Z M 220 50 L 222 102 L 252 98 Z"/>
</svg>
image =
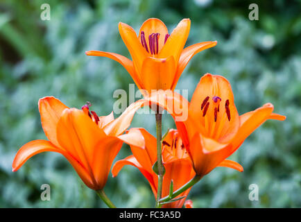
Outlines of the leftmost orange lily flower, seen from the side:
<svg viewBox="0 0 301 222">
<path fill-rule="evenodd" d="M 135 137 L 135 133 L 122 133 L 142 103 L 132 103 L 114 119 L 112 112 L 98 117 L 89 111 L 89 105 L 78 110 L 68 108 L 53 96 L 40 99 L 42 128 L 49 140 L 37 139 L 22 146 L 12 163 L 12 171 L 17 171 L 33 155 L 52 151 L 66 157 L 87 187 L 103 189 L 123 141 L 130 143 L 131 137 Z"/>
</svg>

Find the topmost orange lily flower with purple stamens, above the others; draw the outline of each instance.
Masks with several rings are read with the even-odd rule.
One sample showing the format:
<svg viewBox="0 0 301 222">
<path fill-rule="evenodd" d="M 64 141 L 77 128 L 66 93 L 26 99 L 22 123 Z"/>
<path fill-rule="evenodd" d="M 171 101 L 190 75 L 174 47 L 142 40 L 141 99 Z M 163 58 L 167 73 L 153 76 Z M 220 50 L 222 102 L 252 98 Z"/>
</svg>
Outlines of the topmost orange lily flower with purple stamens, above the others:
<svg viewBox="0 0 301 222">
<path fill-rule="evenodd" d="M 103 56 L 126 68 L 139 89 L 175 89 L 182 71 L 196 53 L 211 48 L 214 42 L 200 42 L 184 49 L 190 30 L 190 19 L 182 19 L 169 35 L 160 19 L 150 18 L 142 24 L 139 35 L 122 22 L 119 33 L 132 60 L 117 53 L 87 51 L 87 56 Z"/>
</svg>

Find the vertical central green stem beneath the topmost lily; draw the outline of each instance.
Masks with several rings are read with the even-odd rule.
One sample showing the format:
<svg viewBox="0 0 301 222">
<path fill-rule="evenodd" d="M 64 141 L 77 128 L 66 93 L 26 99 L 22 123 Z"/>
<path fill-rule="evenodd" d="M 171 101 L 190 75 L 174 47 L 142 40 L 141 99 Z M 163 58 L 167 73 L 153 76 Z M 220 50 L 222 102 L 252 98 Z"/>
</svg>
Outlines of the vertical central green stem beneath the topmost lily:
<svg viewBox="0 0 301 222">
<path fill-rule="evenodd" d="M 157 188 L 157 199 L 156 199 L 156 208 L 160 208 L 159 200 L 162 195 L 162 184 L 163 184 L 163 164 L 162 164 L 162 148 L 161 148 L 161 140 L 162 140 L 162 114 L 159 113 L 159 109 L 157 109 L 155 114 L 156 116 L 156 131 L 157 131 L 157 168 L 158 168 L 158 188 Z"/>
</svg>

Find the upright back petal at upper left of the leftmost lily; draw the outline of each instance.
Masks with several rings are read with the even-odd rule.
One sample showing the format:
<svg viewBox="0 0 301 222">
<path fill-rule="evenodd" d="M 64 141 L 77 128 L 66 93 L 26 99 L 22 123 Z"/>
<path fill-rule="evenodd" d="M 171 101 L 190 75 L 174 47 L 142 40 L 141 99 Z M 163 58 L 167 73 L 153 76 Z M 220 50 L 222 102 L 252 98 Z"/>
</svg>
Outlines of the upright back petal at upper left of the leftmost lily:
<svg viewBox="0 0 301 222">
<path fill-rule="evenodd" d="M 58 99 L 55 99 L 55 97 L 53 96 L 46 96 L 40 99 L 38 104 L 41 115 L 42 128 L 46 137 L 55 146 L 60 146 L 60 144 L 58 144 L 56 135 L 56 125 L 58 124 L 58 120 L 62 115 L 62 111 L 64 111 L 68 107 Z"/>
</svg>

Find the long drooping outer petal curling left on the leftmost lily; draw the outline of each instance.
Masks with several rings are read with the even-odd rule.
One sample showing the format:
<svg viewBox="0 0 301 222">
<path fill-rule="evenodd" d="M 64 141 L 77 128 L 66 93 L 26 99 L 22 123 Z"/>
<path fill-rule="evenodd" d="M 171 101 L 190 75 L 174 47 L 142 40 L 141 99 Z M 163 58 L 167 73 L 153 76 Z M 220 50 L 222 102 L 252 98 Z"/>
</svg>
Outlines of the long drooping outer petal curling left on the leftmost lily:
<svg viewBox="0 0 301 222">
<path fill-rule="evenodd" d="M 37 139 L 33 140 L 31 142 L 28 142 L 22 148 L 19 149 L 17 152 L 14 161 L 12 162 L 12 171 L 17 171 L 22 165 L 33 155 L 36 155 L 37 153 L 42 153 L 42 152 L 56 152 L 56 153 L 61 153 L 64 155 L 67 160 L 71 163 L 71 165 L 74 167 L 76 172 L 78 173 L 78 176 L 85 182 L 85 185 L 87 187 L 90 187 L 93 189 L 94 184 L 92 182 L 92 178 L 87 173 L 87 170 L 85 167 L 80 165 L 71 155 L 69 155 L 67 152 L 61 150 L 60 148 L 57 148 L 53 146 L 53 144 L 49 141 L 42 140 L 42 139 Z"/>
</svg>

